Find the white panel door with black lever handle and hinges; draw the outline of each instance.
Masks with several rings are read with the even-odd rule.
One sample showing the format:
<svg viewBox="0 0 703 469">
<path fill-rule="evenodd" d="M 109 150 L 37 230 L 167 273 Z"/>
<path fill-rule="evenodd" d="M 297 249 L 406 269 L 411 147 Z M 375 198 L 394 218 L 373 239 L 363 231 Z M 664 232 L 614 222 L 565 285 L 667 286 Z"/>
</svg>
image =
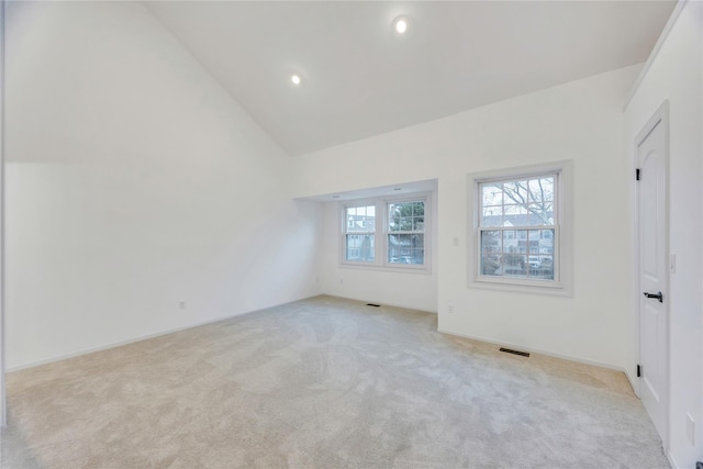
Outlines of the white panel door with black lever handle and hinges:
<svg viewBox="0 0 703 469">
<path fill-rule="evenodd" d="M 669 421 L 668 142 L 666 108 L 637 144 L 639 245 L 639 365 L 641 399 L 667 446 Z"/>
</svg>

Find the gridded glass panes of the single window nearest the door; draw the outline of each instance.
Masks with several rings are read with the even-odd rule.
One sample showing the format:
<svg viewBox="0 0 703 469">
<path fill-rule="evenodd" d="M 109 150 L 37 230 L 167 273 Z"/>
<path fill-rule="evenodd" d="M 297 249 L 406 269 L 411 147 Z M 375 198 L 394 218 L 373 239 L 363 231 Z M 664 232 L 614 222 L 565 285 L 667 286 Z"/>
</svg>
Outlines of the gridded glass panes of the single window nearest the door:
<svg viewBox="0 0 703 469">
<path fill-rule="evenodd" d="M 483 279 L 558 280 L 558 174 L 478 183 L 478 272 Z"/>
</svg>

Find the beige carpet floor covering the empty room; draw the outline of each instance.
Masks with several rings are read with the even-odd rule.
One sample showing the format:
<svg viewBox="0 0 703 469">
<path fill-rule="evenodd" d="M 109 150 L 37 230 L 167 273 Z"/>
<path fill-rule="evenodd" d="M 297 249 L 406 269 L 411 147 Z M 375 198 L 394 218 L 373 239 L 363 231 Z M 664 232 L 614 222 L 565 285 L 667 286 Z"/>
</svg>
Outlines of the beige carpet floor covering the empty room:
<svg viewBox="0 0 703 469">
<path fill-rule="evenodd" d="M 317 297 L 8 376 L 7 468 L 667 468 L 621 372 Z"/>
</svg>

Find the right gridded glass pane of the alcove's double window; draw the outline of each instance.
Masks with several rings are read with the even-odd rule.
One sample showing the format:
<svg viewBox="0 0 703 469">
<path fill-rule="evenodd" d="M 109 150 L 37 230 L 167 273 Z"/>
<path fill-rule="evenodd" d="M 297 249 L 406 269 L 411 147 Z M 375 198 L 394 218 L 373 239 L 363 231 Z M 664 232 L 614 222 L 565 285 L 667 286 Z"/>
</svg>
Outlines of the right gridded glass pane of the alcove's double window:
<svg viewBox="0 0 703 469">
<path fill-rule="evenodd" d="M 425 201 L 387 204 L 389 264 L 425 264 Z"/>
</svg>

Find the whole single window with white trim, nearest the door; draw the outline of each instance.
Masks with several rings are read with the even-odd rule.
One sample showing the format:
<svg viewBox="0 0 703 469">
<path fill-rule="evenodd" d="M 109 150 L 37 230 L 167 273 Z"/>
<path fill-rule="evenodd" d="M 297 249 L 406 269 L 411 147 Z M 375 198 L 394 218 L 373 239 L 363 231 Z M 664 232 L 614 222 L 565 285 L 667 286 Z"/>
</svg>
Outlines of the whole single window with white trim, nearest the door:
<svg viewBox="0 0 703 469">
<path fill-rule="evenodd" d="M 471 286 L 522 291 L 567 287 L 563 179 L 568 163 L 470 178 Z M 524 169 L 524 168 L 523 168 Z M 542 169 L 542 170 L 540 170 Z M 570 217 L 567 217 L 570 219 Z M 569 230 L 566 230 L 569 233 Z M 515 288 L 517 287 L 517 288 Z"/>
</svg>

